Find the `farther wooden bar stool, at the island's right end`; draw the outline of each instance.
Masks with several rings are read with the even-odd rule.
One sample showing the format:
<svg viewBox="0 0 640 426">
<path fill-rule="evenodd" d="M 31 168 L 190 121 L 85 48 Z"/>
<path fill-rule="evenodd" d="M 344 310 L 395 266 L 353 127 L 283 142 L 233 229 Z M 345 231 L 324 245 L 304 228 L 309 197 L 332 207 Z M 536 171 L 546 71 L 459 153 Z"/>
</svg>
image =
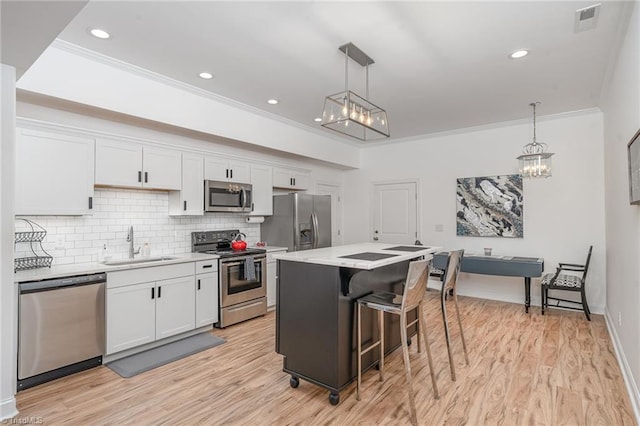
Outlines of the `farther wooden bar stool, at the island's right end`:
<svg viewBox="0 0 640 426">
<path fill-rule="evenodd" d="M 469 365 L 469 355 L 467 353 L 467 344 L 464 340 L 464 332 L 462 331 L 462 320 L 460 319 L 460 309 L 458 308 L 458 274 L 460 273 L 460 265 L 464 249 L 449 252 L 447 256 L 447 265 L 443 273 L 442 290 L 440 291 L 440 306 L 442 307 L 442 321 L 444 322 L 444 335 L 447 339 L 447 352 L 449 353 L 449 367 L 451 369 L 451 380 L 456 380 L 456 369 L 453 362 L 453 354 L 451 353 L 451 337 L 449 335 L 449 321 L 447 318 L 447 294 L 453 297 L 453 304 L 456 307 L 456 316 L 458 317 L 458 326 L 460 327 L 460 338 L 462 339 L 462 349 L 464 351 L 464 359 Z"/>
</svg>

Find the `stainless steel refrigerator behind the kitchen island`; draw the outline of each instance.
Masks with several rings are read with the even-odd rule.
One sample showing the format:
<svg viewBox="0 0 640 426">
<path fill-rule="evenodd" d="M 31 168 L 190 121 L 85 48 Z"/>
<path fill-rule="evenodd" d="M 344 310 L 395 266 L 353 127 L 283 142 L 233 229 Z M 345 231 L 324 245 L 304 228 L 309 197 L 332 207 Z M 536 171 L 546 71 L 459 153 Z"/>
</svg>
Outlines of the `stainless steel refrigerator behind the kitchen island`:
<svg viewBox="0 0 640 426">
<path fill-rule="evenodd" d="M 273 196 L 273 216 L 262 223 L 261 239 L 289 251 L 331 246 L 331 196 L 291 193 Z"/>
</svg>

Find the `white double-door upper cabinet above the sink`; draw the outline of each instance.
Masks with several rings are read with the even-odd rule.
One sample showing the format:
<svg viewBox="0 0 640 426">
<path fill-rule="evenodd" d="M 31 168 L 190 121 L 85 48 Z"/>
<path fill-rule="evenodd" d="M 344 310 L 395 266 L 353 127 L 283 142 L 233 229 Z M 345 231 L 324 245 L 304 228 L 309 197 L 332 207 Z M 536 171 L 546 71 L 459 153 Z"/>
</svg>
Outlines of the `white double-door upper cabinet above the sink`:
<svg viewBox="0 0 640 426">
<path fill-rule="evenodd" d="M 179 190 L 180 151 L 135 142 L 96 141 L 96 185 Z"/>
</svg>

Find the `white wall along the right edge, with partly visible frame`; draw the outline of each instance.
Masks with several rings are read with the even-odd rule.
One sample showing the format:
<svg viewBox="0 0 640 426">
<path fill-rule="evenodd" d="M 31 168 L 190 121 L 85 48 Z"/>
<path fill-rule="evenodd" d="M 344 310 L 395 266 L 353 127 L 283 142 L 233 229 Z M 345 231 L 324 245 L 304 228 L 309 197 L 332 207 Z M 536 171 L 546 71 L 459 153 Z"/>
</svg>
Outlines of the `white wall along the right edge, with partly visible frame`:
<svg viewBox="0 0 640 426">
<path fill-rule="evenodd" d="M 603 99 L 607 316 L 640 419 L 640 206 L 629 205 L 627 143 L 640 128 L 640 7 L 636 2 Z M 622 322 L 618 323 L 618 315 Z"/>
</svg>

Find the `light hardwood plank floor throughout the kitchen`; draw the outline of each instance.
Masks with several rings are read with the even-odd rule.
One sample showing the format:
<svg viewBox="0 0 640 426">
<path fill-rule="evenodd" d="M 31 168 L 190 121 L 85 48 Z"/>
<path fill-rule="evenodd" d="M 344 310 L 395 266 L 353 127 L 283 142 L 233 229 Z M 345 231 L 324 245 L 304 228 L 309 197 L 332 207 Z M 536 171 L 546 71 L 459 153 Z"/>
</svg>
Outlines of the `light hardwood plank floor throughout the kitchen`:
<svg viewBox="0 0 640 426">
<path fill-rule="evenodd" d="M 604 318 L 460 297 L 471 365 L 452 336 L 451 381 L 438 294 L 426 319 L 441 398 L 433 398 L 424 350 L 411 346 L 418 420 L 424 425 L 634 425 Z M 451 310 L 453 312 L 453 310 Z M 452 330 L 457 326 L 452 321 Z M 363 376 L 340 394 L 300 381 L 289 386 L 275 353 L 275 313 L 214 334 L 227 342 L 123 379 L 102 366 L 17 395 L 19 419 L 44 424 L 410 424 L 402 354 L 386 358 L 385 381 Z M 415 342 L 415 339 L 414 339 Z"/>
</svg>

